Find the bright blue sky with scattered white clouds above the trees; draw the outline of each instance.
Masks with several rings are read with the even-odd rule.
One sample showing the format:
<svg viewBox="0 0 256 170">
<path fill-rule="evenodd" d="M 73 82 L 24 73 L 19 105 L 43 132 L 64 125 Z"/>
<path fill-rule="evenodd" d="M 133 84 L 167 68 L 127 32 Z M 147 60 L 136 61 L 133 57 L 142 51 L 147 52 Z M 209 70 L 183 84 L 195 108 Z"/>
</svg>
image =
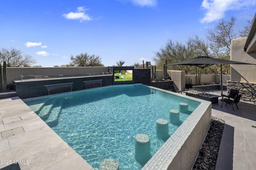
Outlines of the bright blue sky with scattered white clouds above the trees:
<svg viewBox="0 0 256 170">
<path fill-rule="evenodd" d="M 0 48 L 20 49 L 44 67 L 80 53 L 99 55 L 105 66 L 154 64 L 168 39 L 205 38 L 232 16 L 238 33 L 255 9 L 256 0 L 2 0 Z"/>
</svg>

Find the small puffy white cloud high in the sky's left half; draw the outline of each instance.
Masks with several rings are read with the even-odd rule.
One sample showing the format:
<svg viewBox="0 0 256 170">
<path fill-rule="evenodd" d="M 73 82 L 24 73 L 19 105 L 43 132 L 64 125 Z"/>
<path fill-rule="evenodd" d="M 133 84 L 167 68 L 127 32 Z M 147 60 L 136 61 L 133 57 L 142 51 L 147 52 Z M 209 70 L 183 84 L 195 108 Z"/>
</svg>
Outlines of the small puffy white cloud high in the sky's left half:
<svg viewBox="0 0 256 170">
<path fill-rule="evenodd" d="M 86 10 L 90 10 L 90 9 L 89 8 L 84 9 L 84 7 L 81 6 L 77 8 L 77 12 L 70 12 L 68 14 L 63 14 L 62 16 L 64 16 L 69 20 L 80 20 L 80 22 L 90 21 L 92 20 L 92 18 L 88 16 L 88 14 L 85 14 Z"/>
</svg>

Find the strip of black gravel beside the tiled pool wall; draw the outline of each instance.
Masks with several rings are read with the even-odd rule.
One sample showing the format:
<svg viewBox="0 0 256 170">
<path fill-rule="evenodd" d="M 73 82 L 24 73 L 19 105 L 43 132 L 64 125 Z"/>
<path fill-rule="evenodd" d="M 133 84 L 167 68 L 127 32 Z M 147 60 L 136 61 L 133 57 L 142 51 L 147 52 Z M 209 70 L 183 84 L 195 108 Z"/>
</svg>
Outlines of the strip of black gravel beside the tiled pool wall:
<svg viewBox="0 0 256 170">
<path fill-rule="evenodd" d="M 194 162 L 193 170 L 215 170 L 225 121 L 212 116 L 210 128 Z"/>
</svg>

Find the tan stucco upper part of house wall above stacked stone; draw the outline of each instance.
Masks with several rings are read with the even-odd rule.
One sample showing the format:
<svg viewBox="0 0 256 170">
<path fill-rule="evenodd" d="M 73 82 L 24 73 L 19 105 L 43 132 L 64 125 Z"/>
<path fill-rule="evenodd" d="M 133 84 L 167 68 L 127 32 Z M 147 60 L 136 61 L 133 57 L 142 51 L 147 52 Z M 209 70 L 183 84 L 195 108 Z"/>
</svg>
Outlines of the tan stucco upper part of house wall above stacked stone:
<svg viewBox="0 0 256 170">
<path fill-rule="evenodd" d="M 256 51 L 246 53 L 244 44 L 246 37 L 232 39 L 230 49 L 230 60 L 244 63 L 256 64 Z M 231 64 L 231 81 L 256 83 L 256 66 L 247 64 Z"/>
</svg>

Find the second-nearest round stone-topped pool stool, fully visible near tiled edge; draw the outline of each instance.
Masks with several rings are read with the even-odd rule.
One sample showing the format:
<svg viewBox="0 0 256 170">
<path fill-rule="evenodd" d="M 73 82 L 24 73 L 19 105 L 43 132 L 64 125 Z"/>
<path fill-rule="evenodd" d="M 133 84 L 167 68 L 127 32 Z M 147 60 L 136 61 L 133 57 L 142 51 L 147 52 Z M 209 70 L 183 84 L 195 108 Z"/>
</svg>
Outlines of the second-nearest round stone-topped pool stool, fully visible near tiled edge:
<svg viewBox="0 0 256 170">
<path fill-rule="evenodd" d="M 135 137 L 135 159 L 144 166 L 150 160 L 150 138 L 146 134 L 138 134 Z"/>
</svg>

